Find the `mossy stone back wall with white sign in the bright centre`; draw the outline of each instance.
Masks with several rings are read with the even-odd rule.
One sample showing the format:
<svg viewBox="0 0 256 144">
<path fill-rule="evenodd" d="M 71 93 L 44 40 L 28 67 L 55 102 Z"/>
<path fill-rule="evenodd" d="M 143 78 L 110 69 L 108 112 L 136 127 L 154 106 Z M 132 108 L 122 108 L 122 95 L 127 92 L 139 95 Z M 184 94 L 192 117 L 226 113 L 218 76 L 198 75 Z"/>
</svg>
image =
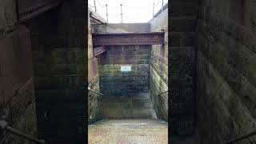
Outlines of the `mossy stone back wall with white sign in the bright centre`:
<svg viewBox="0 0 256 144">
<path fill-rule="evenodd" d="M 148 32 L 149 23 L 124 23 L 95 26 L 95 32 Z M 102 118 L 156 118 L 149 97 L 151 46 L 108 46 L 99 57 Z M 131 66 L 122 72 L 121 66 Z"/>
</svg>

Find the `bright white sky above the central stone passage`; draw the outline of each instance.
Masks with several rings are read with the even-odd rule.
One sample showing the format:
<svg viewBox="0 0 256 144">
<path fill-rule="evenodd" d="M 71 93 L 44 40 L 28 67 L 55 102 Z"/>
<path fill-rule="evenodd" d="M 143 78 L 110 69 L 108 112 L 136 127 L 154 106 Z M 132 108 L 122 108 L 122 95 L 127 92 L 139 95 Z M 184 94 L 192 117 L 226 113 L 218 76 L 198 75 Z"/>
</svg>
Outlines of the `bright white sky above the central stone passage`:
<svg viewBox="0 0 256 144">
<path fill-rule="evenodd" d="M 95 0 L 95 3 L 97 13 L 104 19 L 106 19 L 107 4 L 109 23 L 121 22 L 120 4 L 122 4 L 122 22 L 139 23 L 150 21 L 153 18 L 153 6 L 156 14 L 162 8 L 162 1 L 164 5 L 168 2 L 168 0 Z M 94 10 L 94 0 L 89 0 L 88 6 Z"/>
</svg>

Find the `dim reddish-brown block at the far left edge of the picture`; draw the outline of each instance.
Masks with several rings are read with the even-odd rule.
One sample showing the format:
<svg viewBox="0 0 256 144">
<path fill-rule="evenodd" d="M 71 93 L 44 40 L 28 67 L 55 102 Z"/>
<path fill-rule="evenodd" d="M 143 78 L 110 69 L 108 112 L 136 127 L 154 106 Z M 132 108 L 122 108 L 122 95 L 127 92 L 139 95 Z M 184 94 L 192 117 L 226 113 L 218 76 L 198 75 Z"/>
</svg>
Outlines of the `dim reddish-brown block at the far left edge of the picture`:
<svg viewBox="0 0 256 144">
<path fill-rule="evenodd" d="M 0 40 L 2 94 L 8 99 L 32 76 L 30 31 L 25 26 Z"/>
</svg>

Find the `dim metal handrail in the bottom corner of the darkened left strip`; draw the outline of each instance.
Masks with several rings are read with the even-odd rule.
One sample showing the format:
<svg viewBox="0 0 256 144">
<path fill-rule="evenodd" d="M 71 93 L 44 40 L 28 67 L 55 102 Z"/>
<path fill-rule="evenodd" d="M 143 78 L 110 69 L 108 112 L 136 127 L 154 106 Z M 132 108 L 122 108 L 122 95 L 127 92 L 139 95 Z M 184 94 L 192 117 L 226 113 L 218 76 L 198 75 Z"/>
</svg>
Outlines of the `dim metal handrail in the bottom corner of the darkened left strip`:
<svg viewBox="0 0 256 144">
<path fill-rule="evenodd" d="M 7 132 L 11 134 L 15 134 L 19 137 L 26 138 L 32 142 L 38 143 L 38 144 L 46 144 L 44 140 L 38 140 L 37 138 L 33 138 L 28 134 L 24 134 L 21 131 L 15 130 L 14 128 L 8 126 L 8 123 L 6 121 L 0 121 L 0 130 L 6 130 Z"/>
</svg>

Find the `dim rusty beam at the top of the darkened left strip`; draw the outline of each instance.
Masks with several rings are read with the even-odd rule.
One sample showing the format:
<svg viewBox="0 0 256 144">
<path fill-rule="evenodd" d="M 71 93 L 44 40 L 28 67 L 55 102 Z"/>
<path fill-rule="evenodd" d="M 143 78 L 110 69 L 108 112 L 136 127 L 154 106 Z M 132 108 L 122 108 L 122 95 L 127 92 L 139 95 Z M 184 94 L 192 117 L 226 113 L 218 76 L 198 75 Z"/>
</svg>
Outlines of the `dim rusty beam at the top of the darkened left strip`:
<svg viewBox="0 0 256 144">
<path fill-rule="evenodd" d="M 18 22 L 25 22 L 59 6 L 63 0 L 17 0 Z"/>
</svg>

